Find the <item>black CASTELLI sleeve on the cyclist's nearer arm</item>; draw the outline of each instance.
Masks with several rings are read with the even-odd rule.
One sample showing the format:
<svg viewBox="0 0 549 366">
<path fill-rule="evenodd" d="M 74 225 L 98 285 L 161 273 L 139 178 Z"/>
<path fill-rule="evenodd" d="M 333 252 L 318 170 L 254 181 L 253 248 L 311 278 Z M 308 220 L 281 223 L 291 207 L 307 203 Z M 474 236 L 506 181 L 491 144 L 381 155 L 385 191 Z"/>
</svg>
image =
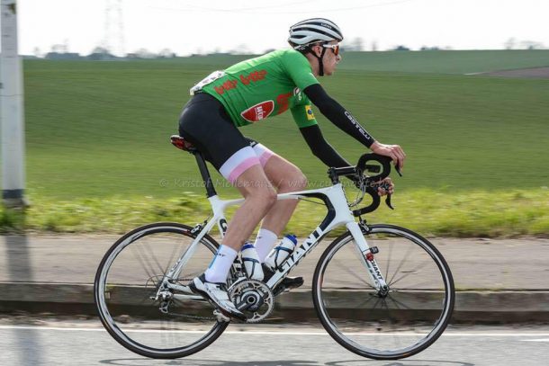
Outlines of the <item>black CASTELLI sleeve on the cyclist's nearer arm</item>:
<svg viewBox="0 0 549 366">
<path fill-rule="evenodd" d="M 320 112 L 326 116 L 339 129 L 345 131 L 357 141 L 371 147 L 375 139 L 356 121 L 355 117 L 326 93 L 320 84 L 307 86 L 305 93 Z"/>
</svg>

